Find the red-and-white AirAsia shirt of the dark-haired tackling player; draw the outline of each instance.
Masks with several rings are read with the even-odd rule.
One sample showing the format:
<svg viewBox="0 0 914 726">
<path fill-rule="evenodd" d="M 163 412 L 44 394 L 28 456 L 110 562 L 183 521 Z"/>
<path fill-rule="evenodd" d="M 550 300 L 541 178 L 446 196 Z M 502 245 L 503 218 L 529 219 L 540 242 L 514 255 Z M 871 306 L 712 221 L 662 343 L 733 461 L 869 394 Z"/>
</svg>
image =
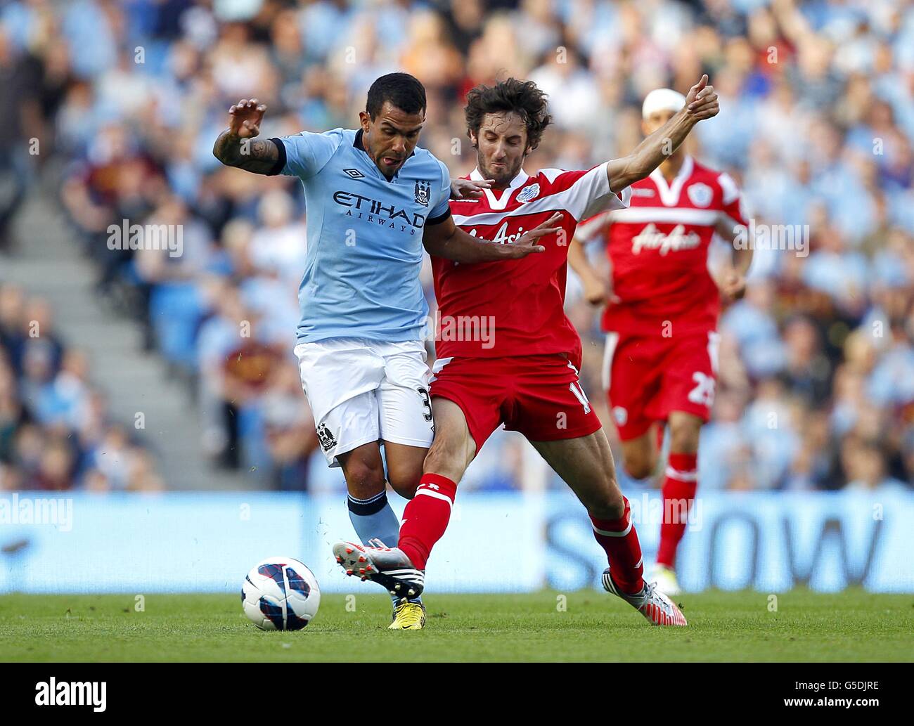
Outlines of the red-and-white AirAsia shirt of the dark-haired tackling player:
<svg viewBox="0 0 914 726">
<path fill-rule="evenodd" d="M 468 178 L 483 176 L 477 169 Z M 623 208 L 628 192 L 613 194 L 602 163 L 575 172 L 542 169 L 536 176 L 521 171 L 501 192 L 485 189 L 481 199 L 452 201 L 454 224 L 505 245 L 555 212 L 564 217 L 557 234 L 540 238 L 546 251 L 523 259 L 470 265 L 431 258 L 438 357 L 560 352 L 579 365 L 580 339 L 564 310 L 568 246 L 581 219 Z"/>
</svg>

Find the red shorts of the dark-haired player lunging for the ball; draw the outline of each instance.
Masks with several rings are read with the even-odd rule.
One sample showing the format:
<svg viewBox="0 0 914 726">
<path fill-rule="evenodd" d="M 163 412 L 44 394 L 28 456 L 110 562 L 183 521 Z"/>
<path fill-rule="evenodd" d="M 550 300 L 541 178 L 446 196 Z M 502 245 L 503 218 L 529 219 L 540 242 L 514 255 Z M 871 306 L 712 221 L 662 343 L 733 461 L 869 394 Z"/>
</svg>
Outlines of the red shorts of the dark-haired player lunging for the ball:
<svg viewBox="0 0 914 726">
<path fill-rule="evenodd" d="M 430 392 L 461 407 L 477 452 L 503 423 L 530 441 L 586 437 L 602 426 L 580 387 L 578 369 L 558 353 L 440 358 Z"/>
</svg>

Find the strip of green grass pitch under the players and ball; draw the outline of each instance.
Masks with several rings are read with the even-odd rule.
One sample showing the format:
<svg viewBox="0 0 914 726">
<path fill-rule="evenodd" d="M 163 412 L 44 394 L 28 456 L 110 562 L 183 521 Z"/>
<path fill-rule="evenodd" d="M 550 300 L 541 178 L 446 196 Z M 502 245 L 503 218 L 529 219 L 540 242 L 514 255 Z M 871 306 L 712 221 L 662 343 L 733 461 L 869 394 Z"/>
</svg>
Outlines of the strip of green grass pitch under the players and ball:
<svg viewBox="0 0 914 726">
<path fill-rule="evenodd" d="M 684 594 L 649 626 L 608 594 L 429 594 L 423 631 L 388 631 L 383 594 L 324 595 L 304 630 L 261 632 L 239 597 L 0 596 L 0 661 L 878 661 L 914 659 L 914 595 Z M 561 606 L 566 609 L 562 610 Z"/>
</svg>

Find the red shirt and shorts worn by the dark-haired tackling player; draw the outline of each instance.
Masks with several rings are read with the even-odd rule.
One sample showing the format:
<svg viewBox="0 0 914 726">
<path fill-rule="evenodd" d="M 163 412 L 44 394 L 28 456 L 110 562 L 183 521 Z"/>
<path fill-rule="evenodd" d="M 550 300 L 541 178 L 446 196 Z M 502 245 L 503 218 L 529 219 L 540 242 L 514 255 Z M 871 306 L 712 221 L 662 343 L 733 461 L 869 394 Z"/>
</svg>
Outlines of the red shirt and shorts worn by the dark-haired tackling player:
<svg viewBox="0 0 914 726">
<path fill-rule="evenodd" d="M 610 190 L 606 163 L 587 171 L 521 170 L 504 190 L 478 201 L 452 201 L 454 223 L 473 237 L 510 244 L 526 229 L 562 214 L 554 240 L 530 264 L 454 265 L 431 259 L 439 330 L 431 396 L 459 405 L 478 451 L 505 424 L 531 441 L 584 437 L 600 429 L 578 380 L 580 338 L 565 315 L 568 243 L 595 209 L 622 209 L 629 196 Z M 470 178 L 482 181 L 478 169 Z M 564 244 L 563 244 L 564 243 Z M 475 321 L 491 336 L 473 334 Z M 469 321 L 469 322 L 468 322 Z M 497 401 L 497 405 L 493 402 Z M 557 416 L 563 414 L 562 426 Z"/>
</svg>

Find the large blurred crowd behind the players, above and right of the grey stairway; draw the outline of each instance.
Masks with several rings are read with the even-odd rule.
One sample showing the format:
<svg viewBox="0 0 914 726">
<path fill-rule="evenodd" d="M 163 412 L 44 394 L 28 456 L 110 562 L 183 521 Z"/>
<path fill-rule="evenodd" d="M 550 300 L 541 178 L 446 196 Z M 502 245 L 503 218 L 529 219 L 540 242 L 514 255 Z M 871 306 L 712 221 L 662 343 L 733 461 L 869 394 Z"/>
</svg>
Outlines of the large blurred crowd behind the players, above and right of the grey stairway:
<svg viewBox="0 0 914 726">
<path fill-rule="evenodd" d="M 0 88 L 6 108 L 20 111 L 0 137 L 11 190 L 0 247 L 27 244 L 8 239 L 8 219 L 30 176 L 53 162 L 74 244 L 97 261 L 99 295 L 126 300 L 147 347 L 193 383 L 206 422 L 201 446 L 218 466 L 269 471 L 281 489 L 344 486 L 318 450 L 291 353 L 305 252 L 301 188 L 213 158 L 232 103 L 268 105 L 265 137 L 352 128 L 370 82 L 406 70 L 428 90 L 420 144 L 458 175 L 474 165 L 466 90 L 534 79 L 556 123 L 526 168 L 575 169 L 640 141 L 648 91 L 685 92 L 707 72 L 721 112 L 698 127 L 690 153 L 738 181 L 757 223 L 808 226 L 809 247 L 759 250 L 747 297 L 722 315 L 702 486 L 874 489 L 914 480 L 909 0 L 0 5 Z M 41 153 L 29 154 L 35 139 Z M 183 255 L 112 251 L 106 230 L 123 219 L 181 225 Z M 585 390 L 615 441 L 600 393 L 597 314 L 573 278 L 568 309 L 584 340 Z M 79 354 L 55 355 L 44 380 L 69 390 L 81 380 Z M 0 382 L 17 375 L 25 385 L 21 356 L 5 359 Z M 15 417 L 7 414 L 15 398 L 0 405 L 2 420 Z M 30 412 L 37 424 L 20 424 L 18 440 L 23 426 L 58 443 L 60 432 L 76 431 L 88 462 L 101 429 L 50 407 L 49 419 Z M 463 486 L 525 486 L 524 447 L 496 435 Z M 22 468 L 21 476 L 41 475 Z"/>
</svg>

